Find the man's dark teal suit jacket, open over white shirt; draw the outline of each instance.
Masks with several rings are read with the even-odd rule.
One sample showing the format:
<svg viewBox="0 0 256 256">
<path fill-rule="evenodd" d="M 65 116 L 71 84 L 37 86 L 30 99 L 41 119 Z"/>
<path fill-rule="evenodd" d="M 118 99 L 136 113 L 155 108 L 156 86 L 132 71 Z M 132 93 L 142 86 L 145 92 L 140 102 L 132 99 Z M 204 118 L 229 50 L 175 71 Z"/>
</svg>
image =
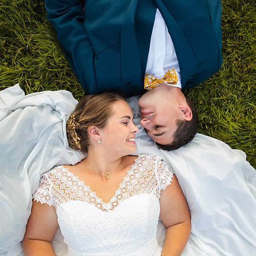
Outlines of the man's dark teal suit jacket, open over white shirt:
<svg viewBox="0 0 256 256">
<path fill-rule="evenodd" d="M 216 73 L 222 63 L 219 0 L 46 0 L 47 18 L 88 94 L 143 93 L 157 8 L 174 43 L 182 89 Z"/>
</svg>

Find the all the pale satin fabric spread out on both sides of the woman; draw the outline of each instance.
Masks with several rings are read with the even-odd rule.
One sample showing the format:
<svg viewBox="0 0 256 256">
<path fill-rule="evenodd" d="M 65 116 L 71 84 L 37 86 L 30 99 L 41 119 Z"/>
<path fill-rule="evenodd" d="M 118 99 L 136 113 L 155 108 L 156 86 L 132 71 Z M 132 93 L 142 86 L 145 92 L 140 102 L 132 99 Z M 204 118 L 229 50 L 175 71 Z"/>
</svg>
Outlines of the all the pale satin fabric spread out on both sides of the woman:
<svg viewBox="0 0 256 256">
<path fill-rule="evenodd" d="M 202 134 L 179 150 L 158 150 L 139 124 L 137 101 L 127 99 L 139 127 L 136 154 L 156 154 L 171 165 L 188 202 L 192 229 L 182 255 L 256 255 L 256 176 L 245 153 Z M 66 137 L 76 103 L 67 91 L 25 96 L 17 84 L 0 92 L 0 255 L 24 255 L 20 241 L 40 175 L 84 157 Z M 160 245 L 164 236 L 159 221 Z M 58 256 L 66 255 L 59 230 L 52 244 Z"/>
</svg>

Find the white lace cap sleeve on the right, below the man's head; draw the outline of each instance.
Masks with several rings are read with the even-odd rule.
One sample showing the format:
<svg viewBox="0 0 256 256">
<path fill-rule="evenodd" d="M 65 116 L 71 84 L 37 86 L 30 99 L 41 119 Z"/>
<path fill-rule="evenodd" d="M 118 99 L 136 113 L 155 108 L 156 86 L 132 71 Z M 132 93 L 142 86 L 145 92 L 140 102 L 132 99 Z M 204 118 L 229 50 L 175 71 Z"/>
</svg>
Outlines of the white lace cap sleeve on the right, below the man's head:
<svg viewBox="0 0 256 256">
<path fill-rule="evenodd" d="M 157 176 L 159 191 L 165 189 L 173 179 L 174 170 L 169 167 L 163 160 L 158 159 Z"/>
</svg>

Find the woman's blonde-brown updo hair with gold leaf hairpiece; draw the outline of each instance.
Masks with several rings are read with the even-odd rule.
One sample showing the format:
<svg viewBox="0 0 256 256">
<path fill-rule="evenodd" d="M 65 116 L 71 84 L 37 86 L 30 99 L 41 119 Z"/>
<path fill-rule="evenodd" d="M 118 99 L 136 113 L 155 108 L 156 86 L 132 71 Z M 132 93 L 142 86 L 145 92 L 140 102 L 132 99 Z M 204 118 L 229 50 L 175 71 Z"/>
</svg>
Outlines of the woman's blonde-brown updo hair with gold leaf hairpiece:
<svg viewBox="0 0 256 256">
<path fill-rule="evenodd" d="M 112 115 L 112 105 L 125 97 L 118 92 L 104 92 L 101 94 L 87 95 L 76 105 L 75 112 L 67 122 L 67 138 L 73 150 L 88 153 L 90 136 L 88 128 L 96 126 L 104 128 Z"/>
</svg>

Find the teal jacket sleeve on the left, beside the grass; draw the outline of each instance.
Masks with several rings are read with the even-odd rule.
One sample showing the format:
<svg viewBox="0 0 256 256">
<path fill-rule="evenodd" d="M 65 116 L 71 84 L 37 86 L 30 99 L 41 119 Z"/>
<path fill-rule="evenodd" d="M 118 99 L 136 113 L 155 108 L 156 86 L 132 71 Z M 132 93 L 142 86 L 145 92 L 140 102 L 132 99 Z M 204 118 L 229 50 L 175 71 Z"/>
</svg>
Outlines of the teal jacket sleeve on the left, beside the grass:
<svg viewBox="0 0 256 256">
<path fill-rule="evenodd" d="M 95 84 L 94 50 L 84 29 L 84 2 L 79 0 L 46 0 L 47 19 L 73 71 L 86 92 Z"/>
</svg>

